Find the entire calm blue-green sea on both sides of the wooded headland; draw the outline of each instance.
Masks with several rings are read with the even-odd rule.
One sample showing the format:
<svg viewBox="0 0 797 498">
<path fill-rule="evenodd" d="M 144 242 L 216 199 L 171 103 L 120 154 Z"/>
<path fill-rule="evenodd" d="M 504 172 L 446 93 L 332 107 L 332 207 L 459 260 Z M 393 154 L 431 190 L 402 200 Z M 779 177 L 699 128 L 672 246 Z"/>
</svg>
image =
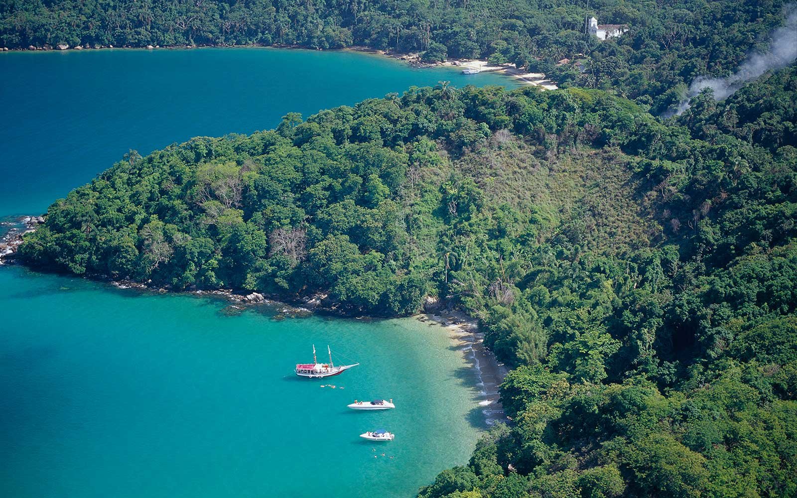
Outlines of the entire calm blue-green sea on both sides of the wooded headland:
<svg viewBox="0 0 797 498">
<path fill-rule="evenodd" d="M 413 84 L 515 85 L 277 49 L 0 53 L 0 75 L 0 217 L 44 212 L 131 148 Z M 0 267 L 0 316 L 0 496 L 411 496 L 467 461 L 483 423 L 461 352 L 414 320 L 282 319 L 19 267 Z M 313 343 L 362 364 L 297 379 Z M 398 408 L 346 408 L 376 397 Z M 358 437 L 381 428 L 396 440 Z"/>
</svg>

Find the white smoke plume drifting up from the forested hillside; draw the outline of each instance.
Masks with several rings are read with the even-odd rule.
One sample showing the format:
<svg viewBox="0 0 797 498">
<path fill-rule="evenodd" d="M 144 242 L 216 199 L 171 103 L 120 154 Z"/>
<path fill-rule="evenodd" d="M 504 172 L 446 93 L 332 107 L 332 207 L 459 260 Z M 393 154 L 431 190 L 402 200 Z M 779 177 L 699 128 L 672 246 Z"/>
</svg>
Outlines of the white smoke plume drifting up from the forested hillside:
<svg viewBox="0 0 797 498">
<path fill-rule="evenodd" d="M 711 88 L 715 99 L 724 100 L 748 81 L 755 80 L 770 69 L 785 68 L 797 60 L 797 4 L 788 4 L 785 11 L 786 23 L 772 31 L 766 52 L 752 53 L 747 61 L 739 66 L 739 70 L 727 78 L 697 77 L 689 85 L 685 100 L 678 105 L 677 114 L 688 109 L 689 100 L 703 88 Z"/>
</svg>

